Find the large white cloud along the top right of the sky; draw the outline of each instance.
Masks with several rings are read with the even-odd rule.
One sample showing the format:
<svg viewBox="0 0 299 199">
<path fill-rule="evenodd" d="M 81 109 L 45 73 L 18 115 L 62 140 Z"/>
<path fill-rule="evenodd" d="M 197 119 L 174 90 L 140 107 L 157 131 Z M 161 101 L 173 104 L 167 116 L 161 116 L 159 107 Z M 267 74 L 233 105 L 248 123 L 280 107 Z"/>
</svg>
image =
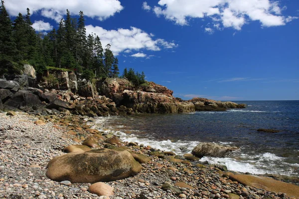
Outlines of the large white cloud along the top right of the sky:
<svg viewBox="0 0 299 199">
<path fill-rule="evenodd" d="M 209 17 L 216 29 L 232 27 L 241 30 L 250 21 L 260 21 L 262 26 L 285 25 L 290 17 L 285 17 L 279 1 L 274 0 L 159 0 L 153 12 L 164 16 L 178 25 L 188 25 L 192 18 Z M 207 31 L 210 33 L 211 31 Z"/>
</svg>

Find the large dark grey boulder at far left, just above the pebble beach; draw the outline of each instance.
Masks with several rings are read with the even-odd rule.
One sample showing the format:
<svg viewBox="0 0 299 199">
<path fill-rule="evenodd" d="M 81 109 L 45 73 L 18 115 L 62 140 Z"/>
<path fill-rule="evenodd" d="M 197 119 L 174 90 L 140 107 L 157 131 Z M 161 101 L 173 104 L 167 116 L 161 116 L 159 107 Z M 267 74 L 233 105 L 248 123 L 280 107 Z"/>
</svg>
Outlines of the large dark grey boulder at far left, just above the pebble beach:
<svg viewBox="0 0 299 199">
<path fill-rule="evenodd" d="M 40 109 L 44 106 L 39 98 L 29 91 L 18 91 L 4 105 L 19 108 L 21 110 Z"/>
</svg>

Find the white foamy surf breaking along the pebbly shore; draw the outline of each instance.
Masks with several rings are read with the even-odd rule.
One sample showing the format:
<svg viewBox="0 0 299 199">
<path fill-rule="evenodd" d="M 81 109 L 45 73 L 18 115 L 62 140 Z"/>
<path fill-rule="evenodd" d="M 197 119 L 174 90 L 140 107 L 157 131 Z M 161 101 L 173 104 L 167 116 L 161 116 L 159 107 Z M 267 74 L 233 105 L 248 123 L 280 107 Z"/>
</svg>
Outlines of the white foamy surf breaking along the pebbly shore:
<svg viewBox="0 0 299 199">
<path fill-rule="evenodd" d="M 171 141 L 167 140 L 154 140 L 154 138 L 141 137 L 137 135 L 138 130 L 130 129 L 131 134 L 126 134 L 122 130 L 114 130 L 115 127 L 107 127 L 108 121 L 114 121 L 113 117 L 99 117 L 96 121 L 90 122 L 93 128 L 105 133 L 112 133 L 120 137 L 122 141 L 136 142 L 138 144 L 143 144 L 144 146 L 150 146 L 155 149 L 162 151 L 171 151 L 177 155 L 183 155 L 186 153 L 191 153 L 193 148 L 197 146 L 199 141 Z M 117 126 L 120 127 L 118 124 Z M 134 134 L 136 132 L 137 134 Z M 217 142 L 222 145 L 232 144 L 232 142 Z M 203 157 L 200 161 L 208 161 L 210 164 L 221 164 L 225 165 L 228 170 L 251 174 L 279 174 L 287 176 L 298 176 L 299 164 L 288 163 L 288 158 L 279 157 L 273 153 L 259 153 L 259 154 L 246 154 L 242 153 L 244 147 L 241 147 L 241 152 L 236 152 L 231 154 L 229 157 L 225 158 L 215 158 L 215 157 Z"/>
</svg>

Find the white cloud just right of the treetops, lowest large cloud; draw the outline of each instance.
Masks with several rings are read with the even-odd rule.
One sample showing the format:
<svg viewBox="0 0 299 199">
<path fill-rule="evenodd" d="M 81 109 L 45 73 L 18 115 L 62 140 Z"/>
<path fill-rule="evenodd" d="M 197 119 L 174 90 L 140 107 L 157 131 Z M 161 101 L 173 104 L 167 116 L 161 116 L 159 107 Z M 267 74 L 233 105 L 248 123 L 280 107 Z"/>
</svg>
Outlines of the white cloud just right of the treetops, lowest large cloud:
<svg viewBox="0 0 299 199">
<path fill-rule="evenodd" d="M 130 29 L 119 28 L 117 30 L 106 30 L 100 26 L 87 25 L 87 34 L 95 33 L 101 38 L 102 46 L 111 44 L 111 50 L 115 55 L 121 52 L 129 53 L 132 50 L 159 51 L 161 48 L 175 48 L 173 42 L 164 39 L 153 39 L 152 35 L 136 27 Z"/>
</svg>

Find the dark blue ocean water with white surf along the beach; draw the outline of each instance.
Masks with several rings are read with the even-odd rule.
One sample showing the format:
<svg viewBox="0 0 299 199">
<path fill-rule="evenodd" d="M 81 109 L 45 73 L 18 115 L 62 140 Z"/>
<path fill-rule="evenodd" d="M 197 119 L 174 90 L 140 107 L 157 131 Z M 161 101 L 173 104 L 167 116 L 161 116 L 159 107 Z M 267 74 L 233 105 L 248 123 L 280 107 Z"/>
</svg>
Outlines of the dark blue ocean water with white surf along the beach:
<svg viewBox="0 0 299 199">
<path fill-rule="evenodd" d="M 240 151 L 224 158 L 203 157 L 200 161 L 243 173 L 299 177 L 299 100 L 235 102 L 246 103 L 247 108 L 97 117 L 91 123 L 123 141 L 178 155 L 190 153 L 200 142 L 238 146 Z M 280 132 L 258 132 L 259 128 Z"/>
</svg>

